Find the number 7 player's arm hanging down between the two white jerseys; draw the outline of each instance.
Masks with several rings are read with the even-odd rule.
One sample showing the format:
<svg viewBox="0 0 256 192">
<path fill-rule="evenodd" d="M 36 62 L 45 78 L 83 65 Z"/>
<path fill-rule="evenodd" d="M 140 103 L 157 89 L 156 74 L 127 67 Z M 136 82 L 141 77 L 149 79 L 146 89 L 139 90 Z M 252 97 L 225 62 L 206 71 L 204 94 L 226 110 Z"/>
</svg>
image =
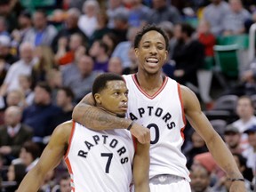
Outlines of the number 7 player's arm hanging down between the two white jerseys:
<svg viewBox="0 0 256 192">
<path fill-rule="evenodd" d="M 149 192 L 149 143 L 141 144 L 137 141 L 137 148 L 133 159 L 133 180 L 135 192 Z"/>
</svg>

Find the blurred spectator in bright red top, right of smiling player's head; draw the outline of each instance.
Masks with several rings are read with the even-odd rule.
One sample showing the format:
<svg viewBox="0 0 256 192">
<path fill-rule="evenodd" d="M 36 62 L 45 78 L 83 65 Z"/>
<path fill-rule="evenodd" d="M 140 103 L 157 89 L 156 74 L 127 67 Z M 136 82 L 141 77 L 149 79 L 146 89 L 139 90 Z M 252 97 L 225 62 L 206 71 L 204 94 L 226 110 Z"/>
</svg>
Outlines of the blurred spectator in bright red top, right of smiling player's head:
<svg viewBox="0 0 256 192">
<path fill-rule="evenodd" d="M 216 44 L 216 38 L 211 32 L 211 25 L 207 20 L 199 21 L 197 38 L 201 44 L 204 44 L 204 55 L 213 58 L 213 46 Z"/>
</svg>

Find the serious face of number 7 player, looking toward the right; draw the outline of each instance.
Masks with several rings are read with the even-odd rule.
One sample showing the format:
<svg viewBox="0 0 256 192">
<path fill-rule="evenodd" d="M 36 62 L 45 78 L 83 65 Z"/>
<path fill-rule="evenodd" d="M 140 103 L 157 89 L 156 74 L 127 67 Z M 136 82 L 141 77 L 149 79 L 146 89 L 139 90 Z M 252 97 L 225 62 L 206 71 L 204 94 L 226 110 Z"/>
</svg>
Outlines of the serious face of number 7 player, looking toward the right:
<svg viewBox="0 0 256 192">
<path fill-rule="evenodd" d="M 96 94 L 95 99 L 100 107 L 116 114 L 125 116 L 127 111 L 128 89 L 124 81 L 109 81 L 107 88 L 100 94 Z"/>
</svg>

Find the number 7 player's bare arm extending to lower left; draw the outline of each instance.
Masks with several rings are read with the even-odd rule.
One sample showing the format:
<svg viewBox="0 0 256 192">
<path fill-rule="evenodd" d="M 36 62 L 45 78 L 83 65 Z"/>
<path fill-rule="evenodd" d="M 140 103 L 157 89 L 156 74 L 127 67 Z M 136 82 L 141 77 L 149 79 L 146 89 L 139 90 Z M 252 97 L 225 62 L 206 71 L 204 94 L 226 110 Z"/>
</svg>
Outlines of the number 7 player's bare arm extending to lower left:
<svg viewBox="0 0 256 192">
<path fill-rule="evenodd" d="M 35 192 L 43 184 L 47 172 L 53 170 L 60 164 L 61 158 L 68 147 L 68 138 L 71 132 L 72 123 L 60 124 L 52 133 L 44 152 L 38 163 L 32 168 L 20 183 L 18 192 Z"/>
</svg>

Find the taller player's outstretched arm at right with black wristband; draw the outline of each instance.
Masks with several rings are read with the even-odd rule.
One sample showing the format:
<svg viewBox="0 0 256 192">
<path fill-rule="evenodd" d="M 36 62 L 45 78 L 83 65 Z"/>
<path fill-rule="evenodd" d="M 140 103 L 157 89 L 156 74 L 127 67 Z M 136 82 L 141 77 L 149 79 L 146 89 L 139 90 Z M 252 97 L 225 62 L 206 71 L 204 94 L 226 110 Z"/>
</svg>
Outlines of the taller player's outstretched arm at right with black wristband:
<svg viewBox="0 0 256 192">
<path fill-rule="evenodd" d="M 228 178 L 243 178 L 243 175 L 239 172 L 236 166 L 236 162 L 231 155 L 231 152 L 220 138 L 220 135 L 215 132 L 207 117 L 204 116 L 195 93 L 189 90 L 188 87 L 181 86 L 181 97 L 189 123 L 204 139 L 207 148 L 211 152 L 216 163 L 227 173 Z M 233 181 L 230 191 L 245 192 L 244 182 Z"/>
</svg>

